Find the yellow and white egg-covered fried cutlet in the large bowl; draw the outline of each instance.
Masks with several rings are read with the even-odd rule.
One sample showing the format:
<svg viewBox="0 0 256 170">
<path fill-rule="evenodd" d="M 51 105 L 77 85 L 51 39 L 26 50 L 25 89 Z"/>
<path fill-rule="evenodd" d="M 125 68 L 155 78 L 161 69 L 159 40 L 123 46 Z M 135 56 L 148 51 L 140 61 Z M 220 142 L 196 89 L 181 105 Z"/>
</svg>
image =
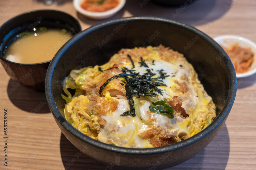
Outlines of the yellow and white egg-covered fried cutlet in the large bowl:
<svg viewBox="0 0 256 170">
<path fill-rule="evenodd" d="M 158 86 L 162 95 L 156 93 L 157 100 L 167 100 L 174 117 L 152 112 L 152 100 L 136 95 L 133 97 L 140 103 L 136 116 L 120 116 L 131 110 L 125 79 L 108 80 L 121 74 L 122 68 L 140 75 L 150 70 L 155 74 L 152 79 L 162 70 L 166 86 Z M 206 128 L 216 117 L 215 104 L 193 66 L 182 54 L 162 45 L 121 49 L 104 65 L 73 70 L 66 80 L 70 82 L 63 88 L 72 88 L 69 84 L 76 88 L 65 107 L 66 119 L 83 134 L 115 146 L 152 148 L 179 142 Z"/>
</svg>

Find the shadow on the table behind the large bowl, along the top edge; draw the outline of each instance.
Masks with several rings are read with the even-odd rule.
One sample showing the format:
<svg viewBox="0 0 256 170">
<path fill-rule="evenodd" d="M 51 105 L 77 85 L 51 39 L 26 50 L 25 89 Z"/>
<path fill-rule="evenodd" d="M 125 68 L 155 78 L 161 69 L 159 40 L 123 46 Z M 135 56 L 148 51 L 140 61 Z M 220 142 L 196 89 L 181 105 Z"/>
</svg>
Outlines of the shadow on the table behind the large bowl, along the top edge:
<svg viewBox="0 0 256 170">
<path fill-rule="evenodd" d="M 154 16 L 184 22 L 190 25 L 210 24 L 223 16 L 231 7 L 230 0 L 198 0 L 181 6 L 162 6 L 152 1 L 128 0 L 116 15 L 104 20 L 93 20 L 77 13 L 78 18 L 87 24 L 98 24 L 104 21 L 121 18 L 125 11 L 133 16 Z M 218 4 L 218 5 L 217 5 Z M 207 28 L 208 28 L 207 27 Z"/>
</svg>

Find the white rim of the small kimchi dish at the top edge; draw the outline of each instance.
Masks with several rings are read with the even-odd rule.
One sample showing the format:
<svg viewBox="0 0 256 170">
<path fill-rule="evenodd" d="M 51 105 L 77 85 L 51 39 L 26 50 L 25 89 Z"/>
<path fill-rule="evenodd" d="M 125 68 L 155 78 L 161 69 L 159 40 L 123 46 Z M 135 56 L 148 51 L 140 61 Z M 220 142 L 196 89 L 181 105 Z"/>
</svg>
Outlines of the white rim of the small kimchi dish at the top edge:
<svg viewBox="0 0 256 170">
<path fill-rule="evenodd" d="M 104 11 L 104 12 L 91 12 L 91 11 L 87 11 L 87 10 L 85 10 L 81 7 L 81 2 L 82 1 L 84 1 L 84 0 L 73 0 L 73 5 L 74 5 L 74 7 L 76 8 L 76 10 L 78 12 L 80 12 L 81 14 L 83 14 L 86 17 L 91 18 L 91 19 L 110 18 L 113 15 L 115 15 L 118 11 L 120 11 L 123 8 L 123 6 L 125 5 L 125 2 L 126 2 L 126 0 L 119 0 L 119 4 L 113 9 L 110 9 L 110 10 L 107 10 L 107 11 Z"/>
</svg>

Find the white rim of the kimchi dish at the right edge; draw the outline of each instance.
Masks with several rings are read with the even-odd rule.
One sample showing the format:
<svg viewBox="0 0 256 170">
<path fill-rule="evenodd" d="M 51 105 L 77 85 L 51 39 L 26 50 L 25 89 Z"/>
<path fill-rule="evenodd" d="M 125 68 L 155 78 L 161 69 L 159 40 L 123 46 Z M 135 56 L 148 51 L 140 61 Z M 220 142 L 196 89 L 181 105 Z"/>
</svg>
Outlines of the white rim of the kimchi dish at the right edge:
<svg viewBox="0 0 256 170">
<path fill-rule="evenodd" d="M 242 35 L 225 34 L 225 35 L 219 35 L 219 36 L 213 37 L 213 39 L 218 43 L 220 43 L 220 41 L 224 41 L 225 39 L 233 39 L 233 40 L 238 39 L 238 41 L 237 41 L 238 44 L 239 44 L 239 42 L 245 42 L 245 43 L 249 44 L 248 47 L 254 48 L 256 50 L 256 44 L 253 41 L 251 41 L 250 39 L 248 39 Z M 221 45 L 223 45 L 223 44 L 221 44 Z M 250 69 L 249 71 L 247 71 L 245 73 L 236 73 L 236 76 L 238 79 L 248 77 L 248 76 L 251 76 L 256 73 L 256 56 L 255 55 L 256 54 L 254 54 L 254 56 L 253 56 L 254 68 Z"/>
</svg>

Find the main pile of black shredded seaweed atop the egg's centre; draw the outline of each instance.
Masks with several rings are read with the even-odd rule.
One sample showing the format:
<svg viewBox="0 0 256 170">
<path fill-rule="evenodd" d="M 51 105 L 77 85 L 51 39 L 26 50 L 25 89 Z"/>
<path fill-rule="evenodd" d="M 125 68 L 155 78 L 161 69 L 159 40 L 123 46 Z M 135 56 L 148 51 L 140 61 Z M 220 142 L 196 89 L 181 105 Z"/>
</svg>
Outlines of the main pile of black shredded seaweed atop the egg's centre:
<svg viewBox="0 0 256 170">
<path fill-rule="evenodd" d="M 142 59 L 143 60 L 143 59 Z M 146 64 L 146 63 L 145 63 Z M 144 66 L 144 64 L 142 63 Z M 157 93 L 160 95 L 163 95 L 161 92 L 161 89 L 157 88 L 157 86 L 167 86 L 166 84 L 162 83 L 162 80 L 159 79 L 165 79 L 165 77 L 168 77 L 166 73 L 163 72 L 163 70 L 159 70 L 159 76 L 157 78 L 152 78 L 152 76 L 155 76 L 155 73 L 152 73 L 150 69 L 147 69 L 146 73 L 143 75 L 140 75 L 139 73 L 136 73 L 134 70 L 127 69 L 126 67 L 122 68 L 123 73 L 115 75 L 108 79 L 99 90 L 99 94 L 102 93 L 102 90 L 106 87 L 106 85 L 109 83 L 109 81 L 113 80 L 114 78 L 122 77 L 125 79 L 123 81 L 126 85 L 126 96 L 129 103 L 130 110 L 124 112 L 121 114 L 121 116 L 135 116 L 135 109 L 134 109 L 134 101 L 133 96 L 137 95 L 137 98 L 140 97 L 155 97 L 157 96 Z M 127 74 L 129 72 L 130 74 Z M 120 83 L 123 84 L 123 83 Z"/>
</svg>

